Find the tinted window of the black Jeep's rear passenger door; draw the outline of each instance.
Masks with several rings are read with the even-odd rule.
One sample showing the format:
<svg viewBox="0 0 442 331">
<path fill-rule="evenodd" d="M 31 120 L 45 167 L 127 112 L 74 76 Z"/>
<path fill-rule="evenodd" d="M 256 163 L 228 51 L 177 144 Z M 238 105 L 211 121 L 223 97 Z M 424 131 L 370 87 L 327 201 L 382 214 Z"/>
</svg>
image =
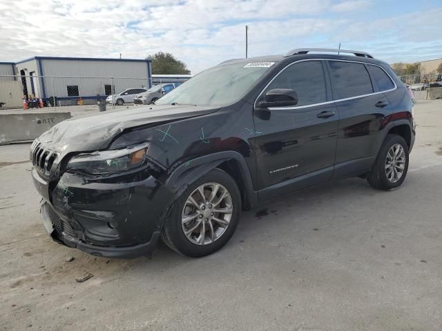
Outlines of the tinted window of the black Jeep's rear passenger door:
<svg viewBox="0 0 442 331">
<path fill-rule="evenodd" d="M 362 63 L 328 61 L 333 99 L 345 99 L 373 92 L 372 81 Z"/>
</svg>

